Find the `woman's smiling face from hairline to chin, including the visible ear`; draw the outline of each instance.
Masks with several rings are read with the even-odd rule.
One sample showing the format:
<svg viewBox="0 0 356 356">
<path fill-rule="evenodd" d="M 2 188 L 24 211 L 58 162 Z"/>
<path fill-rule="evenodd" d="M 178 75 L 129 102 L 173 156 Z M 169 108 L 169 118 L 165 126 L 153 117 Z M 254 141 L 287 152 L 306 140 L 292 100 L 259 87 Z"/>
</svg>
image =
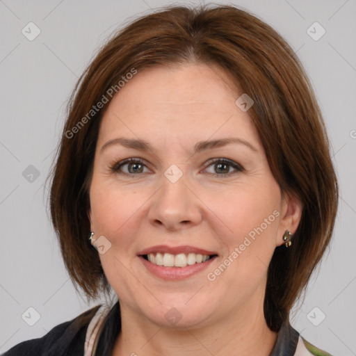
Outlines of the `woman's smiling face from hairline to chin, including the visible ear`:
<svg viewBox="0 0 356 356">
<path fill-rule="evenodd" d="M 89 213 L 123 316 L 177 327 L 263 316 L 298 204 L 282 198 L 241 94 L 215 66 L 158 67 L 104 113 Z"/>
</svg>

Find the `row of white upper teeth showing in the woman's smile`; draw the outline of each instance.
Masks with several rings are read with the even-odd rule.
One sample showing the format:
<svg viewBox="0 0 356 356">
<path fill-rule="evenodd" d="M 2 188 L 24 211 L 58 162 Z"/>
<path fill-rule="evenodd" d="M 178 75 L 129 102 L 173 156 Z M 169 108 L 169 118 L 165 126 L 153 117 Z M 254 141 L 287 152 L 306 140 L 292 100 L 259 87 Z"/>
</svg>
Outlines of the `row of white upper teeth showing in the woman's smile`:
<svg viewBox="0 0 356 356">
<path fill-rule="evenodd" d="M 186 267 L 187 265 L 191 266 L 193 264 L 201 264 L 202 262 L 207 261 L 210 258 L 207 254 L 195 254 L 188 253 L 188 255 L 184 253 L 179 254 L 170 254 L 165 253 L 162 254 L 160 252 L 154 254 L 147 254 L 147 259 L 152 264 L 156 264 L 158 266 L 165 267 Z"/>
</svg>

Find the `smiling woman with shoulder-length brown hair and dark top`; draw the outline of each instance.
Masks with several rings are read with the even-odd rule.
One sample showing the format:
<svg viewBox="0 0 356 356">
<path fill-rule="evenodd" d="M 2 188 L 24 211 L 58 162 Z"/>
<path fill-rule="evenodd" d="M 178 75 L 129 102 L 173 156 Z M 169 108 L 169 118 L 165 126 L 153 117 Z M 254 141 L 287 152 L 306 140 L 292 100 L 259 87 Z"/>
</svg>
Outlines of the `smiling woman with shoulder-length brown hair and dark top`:
<svg viewBox="0 0 356 356">
<path fill-rule="evenodd" d="M 289 312 L 337 197 L 314 92 L 280 35 L 233 6 L 141 17 L 77 84 L 51 181 L 74 285 L 118 301 L 5 355 L 329 355 Z"/>
</svg>

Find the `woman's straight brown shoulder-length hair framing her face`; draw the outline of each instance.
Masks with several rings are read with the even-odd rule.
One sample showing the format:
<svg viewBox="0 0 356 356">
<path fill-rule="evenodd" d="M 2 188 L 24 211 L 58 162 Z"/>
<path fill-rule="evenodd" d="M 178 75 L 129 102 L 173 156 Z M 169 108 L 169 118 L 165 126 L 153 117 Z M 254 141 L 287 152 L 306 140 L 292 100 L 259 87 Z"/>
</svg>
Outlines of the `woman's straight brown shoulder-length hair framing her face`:
<svg viewBox="0 0 356 356">
<path fill-rule="evenodd" d="M 175 6 L 140 17 L 104 45 L 79 79 L 51 172 L 51 218 L 65 266 L 88 300 L 110 292 L 88 242 L 88 188 L 108 104 L 95 111 L 93 105 L 110 102 L 108 92 L 118 92 L 129 72 L 187 62 L 220 65 L 253 99 L 249 113 L 270 170 L 282 192 L 303 204 L 293 245 L 276 248 L 268 268 L 264 314 L 278 331 L 330 242 L 338 184 L 321 111 L 296 54 L 268 24 L 234 6 Z"/>
</svg>

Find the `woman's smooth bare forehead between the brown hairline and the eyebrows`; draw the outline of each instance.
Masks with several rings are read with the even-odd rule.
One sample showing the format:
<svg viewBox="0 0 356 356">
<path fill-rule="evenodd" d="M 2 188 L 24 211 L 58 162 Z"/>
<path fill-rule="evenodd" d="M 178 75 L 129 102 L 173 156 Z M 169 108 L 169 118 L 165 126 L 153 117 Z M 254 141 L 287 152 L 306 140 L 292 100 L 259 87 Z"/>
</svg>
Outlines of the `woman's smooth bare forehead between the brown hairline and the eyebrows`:
<svg viewBox="0 0 356 356">
<path fill-rule="evenodd" d="M 229 74 L 216 65 L 186 64 L 138 71 L 109 104 L 99 140 L 119 133 L 158 138 L 158 131 L 181 140 L 240 133 L 258 145 L 248 112 L 235 104 L 240 95 Z"/>
</svg>

